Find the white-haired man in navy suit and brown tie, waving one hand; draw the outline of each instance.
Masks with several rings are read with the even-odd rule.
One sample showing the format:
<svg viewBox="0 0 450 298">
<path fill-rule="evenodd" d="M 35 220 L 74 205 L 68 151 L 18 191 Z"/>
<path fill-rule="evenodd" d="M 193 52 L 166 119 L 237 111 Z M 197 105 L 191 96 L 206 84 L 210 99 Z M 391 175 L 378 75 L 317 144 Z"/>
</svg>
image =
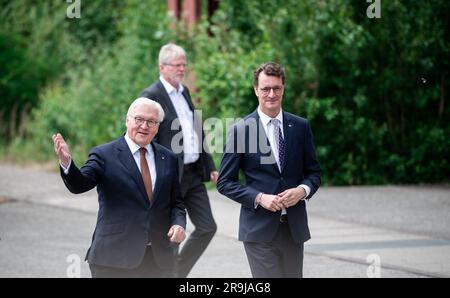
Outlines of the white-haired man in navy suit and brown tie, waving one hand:
<svg viewBox="0 0 450 298">
<path fill-rule="evenodd" d="M 127 132 L 95 147 L 80 169 L 61 134 L 53 135 L 61 177 L 72 193 L 97 187 L 99 211 L 86 260 L 92 277 L 172 277 L 173 246 L 185 238 L 177 157 L 154 142 L 162 107 L 138 98 Z"/>
</svg>

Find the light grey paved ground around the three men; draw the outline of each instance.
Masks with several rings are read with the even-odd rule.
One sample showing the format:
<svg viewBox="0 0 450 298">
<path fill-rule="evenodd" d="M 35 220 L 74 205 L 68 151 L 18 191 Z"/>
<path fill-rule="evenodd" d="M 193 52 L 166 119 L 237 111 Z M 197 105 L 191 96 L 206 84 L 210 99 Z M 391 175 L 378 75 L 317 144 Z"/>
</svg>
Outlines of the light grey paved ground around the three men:
<svg viewBox="0 0 450 298">
<path fill-rule="evenodd" d="M 239 205 L 209 194 L 218 232 L 189 277 L 250 277 Z M 56 172 L 0 164 L 0 277 L 65 277 L 97 208 L 95 191 L 72 195 Z M 450 277 L 450 187 L 323 187 L 307 208 L 305 277 Z"/>
</svg>

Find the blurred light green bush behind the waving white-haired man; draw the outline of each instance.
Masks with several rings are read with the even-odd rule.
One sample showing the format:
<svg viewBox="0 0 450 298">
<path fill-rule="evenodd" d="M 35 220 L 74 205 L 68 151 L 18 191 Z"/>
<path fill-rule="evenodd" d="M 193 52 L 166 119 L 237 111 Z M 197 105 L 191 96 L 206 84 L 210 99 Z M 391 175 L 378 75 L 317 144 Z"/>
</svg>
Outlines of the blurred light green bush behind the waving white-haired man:
<svg viewBox="0 0 450 298">
<path fill-rule="evenodd" d="M 60 132 L 70 143 L 75 159 L 117 138 L 125 131 L 129 104 L 158 76 L 159 48 L 172 36 L 163 5 L 128 1 L 117 27 L 122 35 L 111 49 L 95 53 L 92 67 L 75 67 L 66 80 L 42 92 L 34 124 L 29 127 L 29 150 L 52 152 L 51 135 Z M 153 11 L 154 18 L 148 18 Z M 18 145 L 23 145 L 19 142 Z M 47 155 L 48 158 L 48 155 Z"/>
</svg>

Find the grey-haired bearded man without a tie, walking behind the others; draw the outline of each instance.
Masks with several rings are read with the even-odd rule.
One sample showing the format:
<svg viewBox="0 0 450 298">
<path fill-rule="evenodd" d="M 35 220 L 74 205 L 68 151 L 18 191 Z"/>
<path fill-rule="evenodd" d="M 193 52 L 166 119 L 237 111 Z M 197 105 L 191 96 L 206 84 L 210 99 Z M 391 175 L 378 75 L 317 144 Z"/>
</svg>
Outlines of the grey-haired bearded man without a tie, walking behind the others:
<svg viewBox="0 0 450 298">
<path fill-rule="evenodd" d="M 140 94 L 159 102 L 164 109 L 166 118 L 155 141 L 178 156 L 183 203 L 195 226 L 178 254 L 178 277 L 189 274 L 217 230 L 204 182 L 216 183 L 218 172 L 208 148 L 202 146 L 203 125 L 188 88 L 182 84 L 186 67 L 183 48 L 163 46 L 159 52 L 159 80 Z"/>
</svg>

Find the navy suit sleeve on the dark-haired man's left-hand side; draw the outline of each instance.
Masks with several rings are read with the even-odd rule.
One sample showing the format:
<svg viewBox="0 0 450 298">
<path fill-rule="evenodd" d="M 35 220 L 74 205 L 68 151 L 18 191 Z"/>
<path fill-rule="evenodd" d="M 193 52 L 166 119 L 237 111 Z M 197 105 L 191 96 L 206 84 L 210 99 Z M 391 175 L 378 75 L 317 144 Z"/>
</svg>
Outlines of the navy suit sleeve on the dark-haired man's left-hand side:
<svg viewBox="0 0 450 298">
<path fill-rule="evenodd" d="M 230 132 L 227 136 L 227 143 L 220 164 L 217 190 L 222 195 L 254 210 L 255 199 L 260 192 L 239 182 L 239 171 L 241 169 L 243 154 L 238 152 L 243 151 L 237 150 L 237 127 L 234 126 Z"/>
</svg>

